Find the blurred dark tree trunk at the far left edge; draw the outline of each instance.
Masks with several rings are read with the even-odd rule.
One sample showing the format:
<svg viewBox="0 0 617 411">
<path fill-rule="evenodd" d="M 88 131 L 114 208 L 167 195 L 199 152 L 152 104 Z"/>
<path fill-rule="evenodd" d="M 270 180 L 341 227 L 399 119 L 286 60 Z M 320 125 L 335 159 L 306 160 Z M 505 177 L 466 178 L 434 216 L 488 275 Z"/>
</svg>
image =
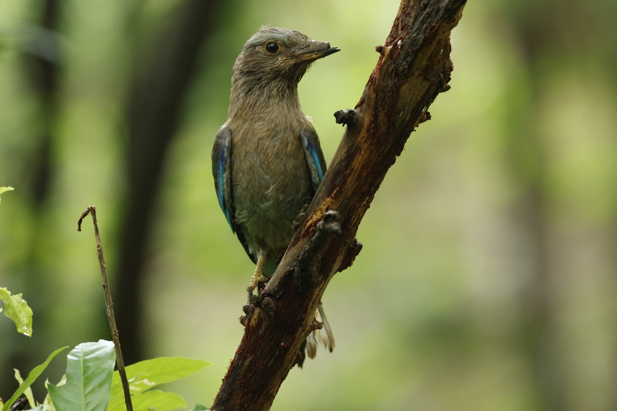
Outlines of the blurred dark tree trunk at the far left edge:
<svg viewBox="0 0 617 411">
<path fill-rule="evenodd" d="M 39 264 L 39 248 L 44 243 L 44 218 L 46 216 L 46 201 L 49 188 L 54 176 L 54 163 L 51 155 L 52 129 L 57 115 L 57 91 L 58 91 L 58 49 L 57 27 L 60 17 L 62 2 L 60 0 L 44 0 L 41 4 L 41 17 L 38 24 L 33 23 L 24 27 L 25 37 L 20 44 L 22 50 L 23 73 L 26 81 L 33 91 L 36 102 L 35 142 L 29 151 L 29 155 L 23 161 L 23 168 L 19 190 L 27 192 L 30 198 L 30 215 L 33 219 L 33 229 L 30 230 L 31 241 L 25 264 L 25 280 L 19 290 L 11 290 L 13 293 L 23 293 L 28 299 L 28 304 L 36 312 L 36 335 L 45 340 L 48 327 L 51 325 L 46 320 L 49 307 L 46 307 L 46 294 L 52 279 Z M 2 336 L 4 338 L 4 336 Z M 11 343 L 14 338 L 21 339 L 23 336 L 11 333 L 6 337 Z M 17 340 L 19 341 L 19 340 Z M 12 344 L 9 349 L 11 357 L 7 359 L 6 367 L 0 372 L 0 387 L 10 387 L 15 384 L 12 368 L 22 371 L 30 370 L 37 360 L 46 356 L 44 346 L 39 344 L 40 352 L 31 352 L 27 344 L 19 342 Z M 26 351 L 28 350 L 28 351 Z"/>
</svg>

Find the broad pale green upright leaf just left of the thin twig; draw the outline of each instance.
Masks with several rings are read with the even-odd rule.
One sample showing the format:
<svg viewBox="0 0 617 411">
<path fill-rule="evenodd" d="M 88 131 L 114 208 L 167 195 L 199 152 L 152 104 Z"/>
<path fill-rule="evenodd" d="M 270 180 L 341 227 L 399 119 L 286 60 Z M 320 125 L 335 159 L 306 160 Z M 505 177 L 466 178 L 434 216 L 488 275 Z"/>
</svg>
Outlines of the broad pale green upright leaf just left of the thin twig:
<svg viewBox="0 0 617 411">
<path fill-rule="evenodd" d="M 56 409 L 106 410 L 114 374 L 114 343 L 106 340 L 81 343 L 67 357 L 66 382 L 48 386 Z"/>
</svg>

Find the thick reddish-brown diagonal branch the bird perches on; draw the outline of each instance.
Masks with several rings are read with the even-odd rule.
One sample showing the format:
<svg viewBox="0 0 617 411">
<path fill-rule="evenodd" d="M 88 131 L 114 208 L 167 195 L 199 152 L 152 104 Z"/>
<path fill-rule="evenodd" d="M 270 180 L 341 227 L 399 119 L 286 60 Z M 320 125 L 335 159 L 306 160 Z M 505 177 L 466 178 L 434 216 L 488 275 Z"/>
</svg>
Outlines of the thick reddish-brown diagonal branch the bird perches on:
<svg viewBox="0 0 617 411">
<path fill-rule="evenodd" d="M 362 247 L 355 234 L 375 192 L 437 94 L 449 89 L 450 31 L 465 0 L 403 0 L 375 70 L 355 110 L 336 114 L 347 124 L 341 144 L 275 274 L 246 307 L 244 336 L 212 410 L 268 410 L 300 344 L 315 328 L 314 314 L 329 280 Z M 328 211 L 339 233 L 315 246 Z M 309 251 L 307 251 L 309 250 Z M 310 256 L 310 261 L 302 256 Z M 313 272 L 307 277 L 302 272 Z M 309 278 L 310 281 L 302 279 Z"/>
</svg>

